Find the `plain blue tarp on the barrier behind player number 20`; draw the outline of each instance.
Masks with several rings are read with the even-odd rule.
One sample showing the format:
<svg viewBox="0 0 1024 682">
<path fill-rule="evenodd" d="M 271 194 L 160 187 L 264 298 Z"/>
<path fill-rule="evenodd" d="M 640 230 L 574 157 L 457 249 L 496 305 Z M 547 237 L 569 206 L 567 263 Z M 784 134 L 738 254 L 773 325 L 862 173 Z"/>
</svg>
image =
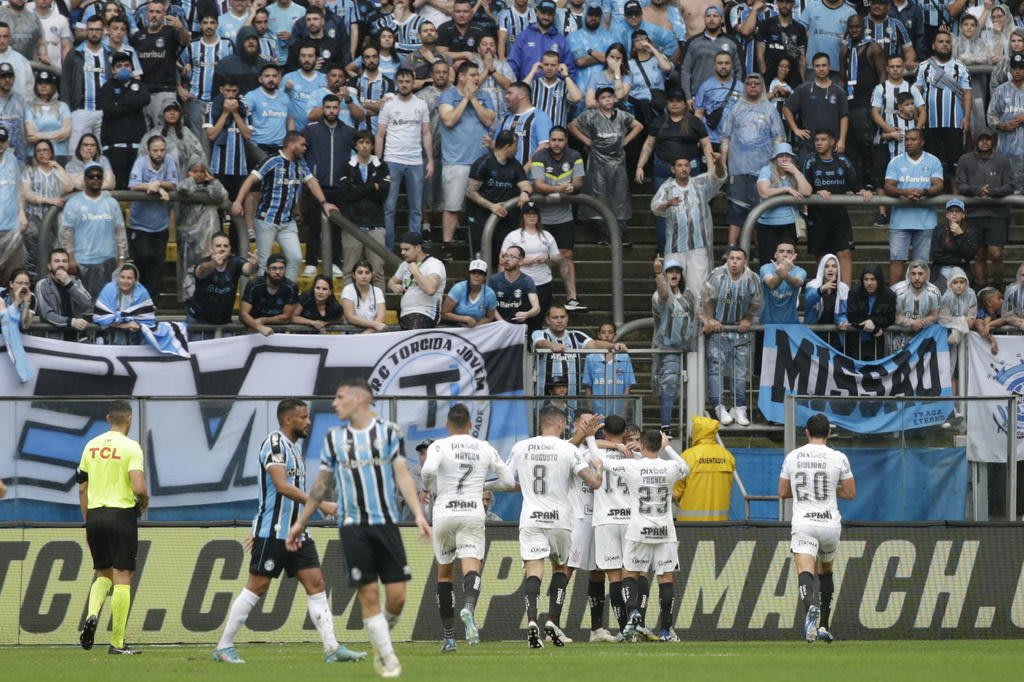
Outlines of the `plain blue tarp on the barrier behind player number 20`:
<svg viewBox="0 0 1024 682">
<path fill-rule="evenodd" d="M 857 481 L 857 497 L 840 500 L 844 521 L 963 521 L 967 509 L 968 460 L 964 447 L 843 447 Z M 775 495 L 781 450 L 732 451 L 736 471 L 751 495 Z M 729 519 L 743 520 L 743 497 L 735 485 Z M 751 504 L 751 519 L 777 521 L 777 502 Z"/>
</svg>

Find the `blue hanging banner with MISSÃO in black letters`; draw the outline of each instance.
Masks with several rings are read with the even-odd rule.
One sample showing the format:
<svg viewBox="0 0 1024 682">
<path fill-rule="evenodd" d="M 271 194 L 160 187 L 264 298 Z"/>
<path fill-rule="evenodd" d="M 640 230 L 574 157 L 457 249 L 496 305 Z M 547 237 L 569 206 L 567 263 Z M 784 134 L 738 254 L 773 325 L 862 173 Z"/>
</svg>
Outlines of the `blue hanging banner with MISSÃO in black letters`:
<svg viewBox="0 0 1024 682">
<path fill-rule="evenodd" d="M 858 433 L 891 433 L 942 424 L 952 402 L 829 400 L 829 396 L 952 395 L 948 330 L 932 325 L 904 348 L 877 360 L 857 360 L 801 325 L 765 327 L 758 408 L 770 422 L 785 421 L 786 395 L 820 395 L 797 402 L 797 425 L 816 413 Z"/>
</svg>

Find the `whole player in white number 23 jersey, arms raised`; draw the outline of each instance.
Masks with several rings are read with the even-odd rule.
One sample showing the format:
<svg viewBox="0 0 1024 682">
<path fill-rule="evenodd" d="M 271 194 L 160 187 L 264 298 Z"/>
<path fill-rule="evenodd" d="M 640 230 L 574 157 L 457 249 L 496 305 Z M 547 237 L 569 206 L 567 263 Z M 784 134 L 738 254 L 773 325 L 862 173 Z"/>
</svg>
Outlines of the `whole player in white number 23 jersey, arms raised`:
<svg viewBox="0 0 1024 682">
<path fill-rule="evenodd" d="M 610 460 L 594 449 L 605 472 L 621 476 L 629 488 L 630 522 L 623 547 L 623 592 L 627 597 L 629 622 L 623 631 L 631 637 L 641 625 L 637 579 L 650 570 L 657 576 L 660 630 L 658 639 L 678 642 L 672 629 L 675 606 L 675 571 L 679 568 L 679 543 L 672 517 L 672 487 L 690 473 L 686 462 L 669 446 L 669 436 L 660 431 L 644 431 L 639 460 Z M 659 459 L 665 453 L 667 459 Z M 595 510 L 596 511 L 596 510 Z"/>
</svg>

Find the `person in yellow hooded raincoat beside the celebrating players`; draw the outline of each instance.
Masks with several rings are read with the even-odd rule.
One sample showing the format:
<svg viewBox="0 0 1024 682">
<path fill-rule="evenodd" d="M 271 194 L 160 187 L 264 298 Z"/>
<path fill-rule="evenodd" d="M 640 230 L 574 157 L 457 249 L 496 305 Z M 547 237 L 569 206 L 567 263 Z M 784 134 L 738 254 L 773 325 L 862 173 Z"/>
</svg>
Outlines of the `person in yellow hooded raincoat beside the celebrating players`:
<svg viewBox="0 0 1024 682">
<path fill-rule="evenodd" d="M 736 458 L 718 442 L 718 421 L 693 417 L 693 446 L 683 452 L 690 475 L 672 491 L 677 521 L 728 521 Z"/>
</svg>

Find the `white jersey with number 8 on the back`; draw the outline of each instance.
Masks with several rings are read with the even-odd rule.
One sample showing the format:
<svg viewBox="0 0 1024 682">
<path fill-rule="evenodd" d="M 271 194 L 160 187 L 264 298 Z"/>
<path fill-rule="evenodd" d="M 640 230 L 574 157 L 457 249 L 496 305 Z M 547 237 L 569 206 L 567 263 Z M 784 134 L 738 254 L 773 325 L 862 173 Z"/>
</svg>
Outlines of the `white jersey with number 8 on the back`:
<svg viewBox="0 0 1024 682">
<path fill-rule="evenodd" d="M 555 436 L 535 436 L 513 445 L 509 467 L 522 488 L 519 527 L 571 529 L 569 496 L 578 474 L 589 466 L 572 443 Z"/>
</svg>

